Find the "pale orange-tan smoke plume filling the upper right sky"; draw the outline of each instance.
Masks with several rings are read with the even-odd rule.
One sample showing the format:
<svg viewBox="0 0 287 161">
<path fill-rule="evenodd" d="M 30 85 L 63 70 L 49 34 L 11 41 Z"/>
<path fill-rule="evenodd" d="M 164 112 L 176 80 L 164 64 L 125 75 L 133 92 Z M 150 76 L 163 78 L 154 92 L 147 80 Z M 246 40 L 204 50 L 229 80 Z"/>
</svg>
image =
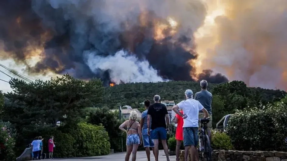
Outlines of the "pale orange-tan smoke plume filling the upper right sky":
<svg viewBox="0 0 287 161">
<path fill-rule="evenodd" d="M 195 36 L 201 69 L 249 86 L 287 90 L 287 1 L 207 0 Z"/>
</svg>

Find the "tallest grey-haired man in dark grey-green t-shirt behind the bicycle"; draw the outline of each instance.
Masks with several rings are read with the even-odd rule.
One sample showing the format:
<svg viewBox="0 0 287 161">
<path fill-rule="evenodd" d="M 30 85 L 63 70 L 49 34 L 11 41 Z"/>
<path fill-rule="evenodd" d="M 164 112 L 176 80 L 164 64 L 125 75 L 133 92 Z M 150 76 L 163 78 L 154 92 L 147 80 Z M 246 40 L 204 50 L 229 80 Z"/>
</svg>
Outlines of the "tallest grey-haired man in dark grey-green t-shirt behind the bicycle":
<svg viewBox="0 0 287 161">
<path fill-rule="evenodd" d="M 200 87 L 201 91 L 196 92 L 194 95 L 194 99 L 199 101 L 200 104 L 207 110 L 209 114 L 209 122 L 207 124 L 207 134 L 209 136 L 209 139 L 211 140 L 211 127 L 212 127 L 212 112 L 211 112 L 211 102 L 212 102 L 212 94 L 207 91 L 207 81 L 201 80 L 200 81 Z M 199 118 L 203 118 L 204 114 L 202 111 L 199 111 Z M 200 129 L 200 122 L 199 122 L 199 129 Z"/>
</svg>

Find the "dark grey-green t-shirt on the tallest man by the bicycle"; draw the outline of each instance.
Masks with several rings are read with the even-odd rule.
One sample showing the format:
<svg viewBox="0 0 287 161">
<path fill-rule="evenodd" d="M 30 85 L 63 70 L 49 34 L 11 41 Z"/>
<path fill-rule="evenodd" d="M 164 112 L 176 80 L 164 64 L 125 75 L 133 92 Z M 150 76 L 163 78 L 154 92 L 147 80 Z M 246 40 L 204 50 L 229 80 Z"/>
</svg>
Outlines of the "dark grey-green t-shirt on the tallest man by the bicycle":
<svg viewBox="0 0 287 161">
<path fill-rule="evenodd" d="M 202 90 L 195 93 L 194 99 L 199 101 L 200 104 L 208 111 L 209 115 L 211 115 L 211 102 L 212 102 L 212 94 L 207 90 Z M 202 111 L 200 111 L 202 112 Z"/>
</svg>

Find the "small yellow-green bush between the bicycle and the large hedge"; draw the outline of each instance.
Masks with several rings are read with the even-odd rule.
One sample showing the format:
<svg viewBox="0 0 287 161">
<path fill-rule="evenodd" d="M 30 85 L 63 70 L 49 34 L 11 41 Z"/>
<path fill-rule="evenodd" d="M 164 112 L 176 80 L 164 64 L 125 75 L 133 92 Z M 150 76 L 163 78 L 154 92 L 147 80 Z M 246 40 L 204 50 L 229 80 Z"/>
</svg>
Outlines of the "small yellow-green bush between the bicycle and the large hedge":
<svg viewBox="0 0 287 161">
<path fill-rule="evenodd" d="M 211 147 L 216 150 L 232 150 L 230 137 L 225 132 L 212 130 Z"/>
</svg>

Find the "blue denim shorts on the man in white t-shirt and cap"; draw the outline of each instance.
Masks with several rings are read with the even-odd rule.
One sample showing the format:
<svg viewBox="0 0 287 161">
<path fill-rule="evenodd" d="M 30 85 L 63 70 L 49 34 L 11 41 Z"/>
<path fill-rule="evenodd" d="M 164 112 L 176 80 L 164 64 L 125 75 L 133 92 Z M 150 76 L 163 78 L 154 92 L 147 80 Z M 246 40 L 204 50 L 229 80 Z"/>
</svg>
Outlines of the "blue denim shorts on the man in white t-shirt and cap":
<svg viewBox="0 0 287 161">
<path fill-rule="evenodd" d="M 197 146 L 198 142 L 198 127 L 183 128 L 183 145 Z"/>
</svg>

